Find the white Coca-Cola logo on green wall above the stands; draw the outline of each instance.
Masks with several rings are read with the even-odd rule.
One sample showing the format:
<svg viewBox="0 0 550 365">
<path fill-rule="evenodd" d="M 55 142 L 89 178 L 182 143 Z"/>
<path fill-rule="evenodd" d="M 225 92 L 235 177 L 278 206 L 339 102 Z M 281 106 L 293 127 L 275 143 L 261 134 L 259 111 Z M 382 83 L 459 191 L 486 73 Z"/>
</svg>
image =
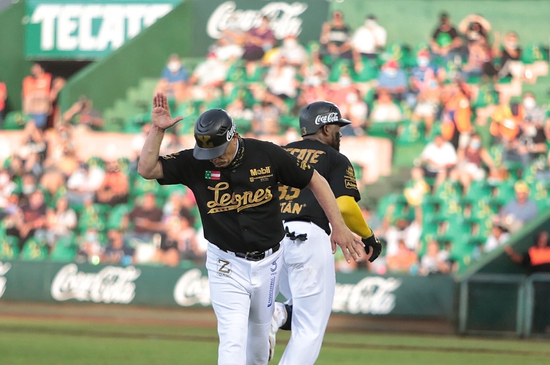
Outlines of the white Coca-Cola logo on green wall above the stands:
<svg viewBox="0 0 550 365">
<path fill-rule="evenodd" d="M 259 27 L 262 17 L 267 16 L 275 38 L 298 36 L 302 31 L 302 20 L 298 16 L 307 9 L 306 3 L 270 2 L 260 10 L 237 10 L 237 4 L 226 1 L 212 12 L 206 23 L 208 36 L 218 39 L 225 30 L 247 32 Z"/>
</svg>

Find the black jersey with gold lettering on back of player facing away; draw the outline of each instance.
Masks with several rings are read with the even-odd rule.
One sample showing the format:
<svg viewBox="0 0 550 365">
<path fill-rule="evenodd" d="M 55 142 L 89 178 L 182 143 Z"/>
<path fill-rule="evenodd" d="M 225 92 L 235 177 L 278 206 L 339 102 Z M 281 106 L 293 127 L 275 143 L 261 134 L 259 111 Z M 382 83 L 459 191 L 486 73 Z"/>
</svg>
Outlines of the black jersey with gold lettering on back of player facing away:
<svg viewBox="0 0 550 365">
<path fill-rule="evenodd" d="M 283 148 L 315 167 L 327 179 L 336 198 L 348 195 L 355 201 L 361 199 L 351 162 L 334 148 L 315 139 L 303 139 Z M 279 186 L 279 203 L 283 220 L 312 222 L 331 234 L 328 218 L 310 189 Z"/>
</svg>

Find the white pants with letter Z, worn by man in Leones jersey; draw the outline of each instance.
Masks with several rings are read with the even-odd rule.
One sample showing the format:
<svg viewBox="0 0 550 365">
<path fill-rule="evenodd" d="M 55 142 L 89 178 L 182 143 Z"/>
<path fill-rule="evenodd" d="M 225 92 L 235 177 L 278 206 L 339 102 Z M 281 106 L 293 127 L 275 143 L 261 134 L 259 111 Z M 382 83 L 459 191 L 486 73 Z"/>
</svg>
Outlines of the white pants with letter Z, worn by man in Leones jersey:
<svg viewBox="0 0 550 365">
<path fill-rule="evenodd" d="M 218 365 L 266 365 L 283 247 L 248 261 L 208 244 L 206 268 L 218 319 Z"/>
</svg>

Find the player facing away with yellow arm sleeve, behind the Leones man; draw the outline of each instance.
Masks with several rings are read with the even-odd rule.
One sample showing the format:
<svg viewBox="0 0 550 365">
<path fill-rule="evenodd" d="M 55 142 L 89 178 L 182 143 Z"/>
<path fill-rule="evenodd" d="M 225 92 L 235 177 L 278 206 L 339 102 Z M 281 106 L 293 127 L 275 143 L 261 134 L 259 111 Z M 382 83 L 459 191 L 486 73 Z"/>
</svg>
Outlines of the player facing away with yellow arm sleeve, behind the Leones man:
<svg viewBox="0 0 550 365">
<path fill-rule="evenodd" d="M 346 225 L 362 237 L 373 261 L 382 246 L 365 222 L 357 201 L 361 199 L 351 162 L 339 152 L 342 119 L 338 107 L 329 102 L 307 105 L 300 113 L 302 141 L 283 148 L 315 167 L 327 179 Z M 292 335 L 279 365 L 315 363 L 334 299 L 335 246 L 329 242 L 331 228 L 310 189 L 279 186 L 279 204 L 287 237 L 281 272 L 281 293 L 287 305 L 276 302 L 270 331 L 270 360 L 275 334 L 281 325 L 292 327 Z M 292 303 L 292 305 L 289 305 Z"/>
</svg>

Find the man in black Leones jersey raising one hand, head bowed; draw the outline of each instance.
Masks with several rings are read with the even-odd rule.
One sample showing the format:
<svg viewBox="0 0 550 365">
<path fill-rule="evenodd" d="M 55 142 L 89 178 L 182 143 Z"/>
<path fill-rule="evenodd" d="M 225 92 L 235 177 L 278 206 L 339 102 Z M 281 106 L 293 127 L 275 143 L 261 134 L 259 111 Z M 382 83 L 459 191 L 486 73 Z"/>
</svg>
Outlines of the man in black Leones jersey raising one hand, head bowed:
<svg viewBox="0 0 550 365">
<path fill-rule="evenodd" d="M 195 123 L 194 149 L 159 157 L 171 118 L 162 93 L 153 98 L 152 128 L 138 172 L 160 184 L 184 184 L 199 207 L 208 240 L 206 267 L 218 319 L 218 364 L 265 365 L 285 236 L 278 183 L 315 194 L 333 227 L 333 244 L 357 259 L 362 242 L 345 226 L 327 181 L 307 162 L 269 142 L 240 138 L 222 109 Z"/>
</svg>

